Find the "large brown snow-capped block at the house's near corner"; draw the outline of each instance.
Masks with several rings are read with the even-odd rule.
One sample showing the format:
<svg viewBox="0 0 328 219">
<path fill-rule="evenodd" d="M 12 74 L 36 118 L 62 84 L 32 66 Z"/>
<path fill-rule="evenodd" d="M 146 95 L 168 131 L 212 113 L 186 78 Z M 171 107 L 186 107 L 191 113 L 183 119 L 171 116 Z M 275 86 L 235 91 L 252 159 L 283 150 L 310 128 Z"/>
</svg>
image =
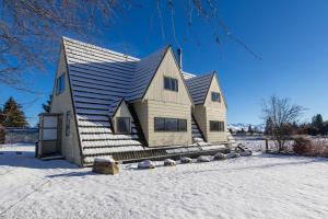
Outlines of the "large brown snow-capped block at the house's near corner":
<svg viewBox="0 0 328 219">
<path fill-rule="evenodd" d="M 101 174 L 118 174 L 118 162 L 114 159 L 95 158 L 93 162 L 93 172 Z"/>
</svg>

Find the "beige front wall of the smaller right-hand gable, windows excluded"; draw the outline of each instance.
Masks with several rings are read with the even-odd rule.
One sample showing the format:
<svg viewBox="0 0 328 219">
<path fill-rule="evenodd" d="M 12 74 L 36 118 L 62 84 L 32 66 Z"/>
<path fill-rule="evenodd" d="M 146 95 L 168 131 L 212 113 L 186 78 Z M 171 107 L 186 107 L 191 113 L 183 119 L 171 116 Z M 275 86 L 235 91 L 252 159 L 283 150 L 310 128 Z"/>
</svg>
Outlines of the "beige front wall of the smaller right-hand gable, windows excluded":
<svg viewBox="0 0 328 219">
<path fill-rule="evenodd" d="M 211 92 L 219 92 L 221 94 L 221 103 L 212 102 Z M 222 92 L 216 77 L 213 78 L 208 95 L 204 101 L 207 127 L 206 137 L 209 142 L 222 142 L 227 141 L 226 135 L 226 107 L 222 96 Z M 224 122 L 225 131 L 210 131 L 210 120 L 222 120 Z"/>
</svg>

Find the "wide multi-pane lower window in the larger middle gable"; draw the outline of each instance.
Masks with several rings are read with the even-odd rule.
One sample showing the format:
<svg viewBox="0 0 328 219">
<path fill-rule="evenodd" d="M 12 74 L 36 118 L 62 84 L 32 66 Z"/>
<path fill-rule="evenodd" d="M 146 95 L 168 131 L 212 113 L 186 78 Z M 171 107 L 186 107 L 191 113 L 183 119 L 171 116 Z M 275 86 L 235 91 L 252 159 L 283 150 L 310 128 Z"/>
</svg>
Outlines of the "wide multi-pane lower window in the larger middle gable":
<svg viewBox="0 0 328 219">
<path fill-rule="evenodd" d="M 154 118 L 155 131 L 187 131 L 187 119 Z"/>
</svg>

